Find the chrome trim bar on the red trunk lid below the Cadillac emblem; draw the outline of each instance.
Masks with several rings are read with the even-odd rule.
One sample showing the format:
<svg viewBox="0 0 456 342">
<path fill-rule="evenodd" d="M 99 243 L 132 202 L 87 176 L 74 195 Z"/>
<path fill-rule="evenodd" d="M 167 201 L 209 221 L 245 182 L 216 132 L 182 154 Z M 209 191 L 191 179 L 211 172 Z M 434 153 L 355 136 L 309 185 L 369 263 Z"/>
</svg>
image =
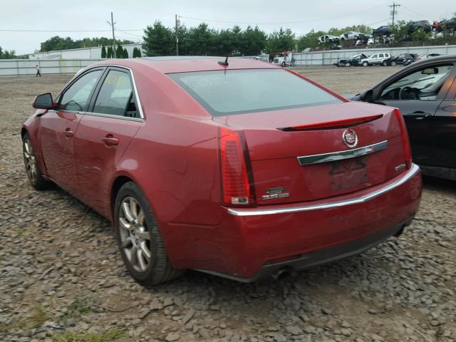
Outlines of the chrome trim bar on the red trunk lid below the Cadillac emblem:
<svg viewBox="0 0 456 342">
<path fill-rule="evenodd" d="M 377 142 L 373 145 L 354 148 L 353 150 L 322 153 L 321 155 L 303 155 L 296 158 L 298 158 L 299 165 L 311 165 L 318 164 L 320 162 L 334 162 L 336 160 L 344 160 L 361 157 L 363 155 L 370 155 L 371 153 L 385 150 L 386 147 L 388 147 L 388 140 Z"/>
</svg>

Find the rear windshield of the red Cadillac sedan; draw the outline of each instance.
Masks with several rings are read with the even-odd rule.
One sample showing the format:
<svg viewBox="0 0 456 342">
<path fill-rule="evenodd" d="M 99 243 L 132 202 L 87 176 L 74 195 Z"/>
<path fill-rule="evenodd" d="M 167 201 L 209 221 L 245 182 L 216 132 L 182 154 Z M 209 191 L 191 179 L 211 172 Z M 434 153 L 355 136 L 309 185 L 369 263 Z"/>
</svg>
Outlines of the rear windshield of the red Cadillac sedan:
<svg viewBox="0 0 456 342">
<path fill-rule="evenodd" d="M 342 102 L 284 69 L 200 71 L 167 75 L 213 116 Z"/>
</svg>

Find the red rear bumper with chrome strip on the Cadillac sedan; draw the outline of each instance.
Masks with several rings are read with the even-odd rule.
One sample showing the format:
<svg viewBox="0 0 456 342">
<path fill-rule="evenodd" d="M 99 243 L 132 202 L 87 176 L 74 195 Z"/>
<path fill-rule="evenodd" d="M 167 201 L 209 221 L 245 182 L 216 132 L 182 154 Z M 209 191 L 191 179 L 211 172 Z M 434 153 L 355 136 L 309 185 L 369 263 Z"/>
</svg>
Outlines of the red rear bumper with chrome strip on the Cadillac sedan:
<svg viewBox="0 0 456 342">
<path fill-rule="evenodd" d="M 210 247 L 200 247 L 200 259 L 185 266 L 249 282 L 349 257 L 409 224 L 420 196 L 421 174 L 413 165 L 382 185 L 331 199 L 225 208 L 206 237 Z"/>
</svg>

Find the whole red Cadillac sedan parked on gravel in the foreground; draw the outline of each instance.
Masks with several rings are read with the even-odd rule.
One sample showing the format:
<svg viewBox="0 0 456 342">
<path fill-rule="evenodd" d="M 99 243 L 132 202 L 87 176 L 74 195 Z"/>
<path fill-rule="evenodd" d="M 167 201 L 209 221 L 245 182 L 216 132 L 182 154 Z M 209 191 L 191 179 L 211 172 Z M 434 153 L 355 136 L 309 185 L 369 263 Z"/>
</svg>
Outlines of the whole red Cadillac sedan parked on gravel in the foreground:
<svg viewBox="0 0 456 342">
<path fill-rule="evenodd" d="M 103 61 L 33 107 L 21 132 L 31 185 L 56 183 L 110 219 L 146 286 L 358 254 L 400 234 L 420 202 L 397 109 L 269 63 Z"/>
</svg>

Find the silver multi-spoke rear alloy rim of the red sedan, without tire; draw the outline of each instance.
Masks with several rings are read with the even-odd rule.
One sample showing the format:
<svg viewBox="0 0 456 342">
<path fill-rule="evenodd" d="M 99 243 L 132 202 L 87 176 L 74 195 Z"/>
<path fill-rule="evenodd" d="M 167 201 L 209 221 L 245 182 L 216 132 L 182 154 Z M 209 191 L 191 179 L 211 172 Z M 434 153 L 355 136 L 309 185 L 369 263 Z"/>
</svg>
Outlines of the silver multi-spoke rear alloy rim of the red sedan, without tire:
<svg viewBox="0 0 456 342">
<path fill-rule="evenodd" d="M 138 272 L 147 271 L 152 253 L 145 214 L 138 201 L 125 197 L 119 207 L 119 233 L 123 252 Z"/>
</svg>

